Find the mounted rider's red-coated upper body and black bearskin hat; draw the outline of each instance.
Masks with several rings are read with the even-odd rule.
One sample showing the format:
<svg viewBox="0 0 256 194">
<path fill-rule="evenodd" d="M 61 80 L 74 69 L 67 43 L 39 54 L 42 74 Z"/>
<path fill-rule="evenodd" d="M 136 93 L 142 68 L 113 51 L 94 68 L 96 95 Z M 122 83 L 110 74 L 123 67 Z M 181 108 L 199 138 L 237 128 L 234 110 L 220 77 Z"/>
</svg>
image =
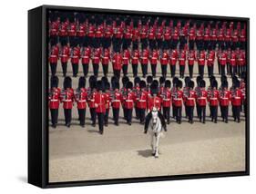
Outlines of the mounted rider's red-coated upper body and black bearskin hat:
<svg viewBox="0 0 256 194">
<path fill-rule="evenodd" d="M 157 108 L 157 110 L 160 112 L 162 100 L 158 96 L 158 94 L 159 94 L 159 82 L 158 81 L 155 80 L 151 83 L 150 91 L 151 91 L 151 96 L 148 97 L 148 112 L 151 112 L 154 107 Z"/>
</svg>

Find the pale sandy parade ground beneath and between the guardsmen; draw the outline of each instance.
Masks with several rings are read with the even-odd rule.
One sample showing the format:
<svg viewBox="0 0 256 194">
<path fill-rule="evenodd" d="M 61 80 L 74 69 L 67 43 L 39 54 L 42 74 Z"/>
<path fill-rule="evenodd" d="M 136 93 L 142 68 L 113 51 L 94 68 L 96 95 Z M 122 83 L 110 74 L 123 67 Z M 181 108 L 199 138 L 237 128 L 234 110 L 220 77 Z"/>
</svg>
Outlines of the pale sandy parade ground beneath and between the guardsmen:
<svg viewBox="0 0 256 194">
<path fill-rule="evenodd" d="M 71 64 L 68 63 L 67 66 L 67 75 L 72 76 Z M 101 67 L 100 64 L 99 78 L 102 76 Z M 92 72 L 92 65 L 89 72 Z M 215 63 L 214 73 L 220 86 L 220 75 L 217 72 L 218 65 Z M 133 82 L 131 65 L 128 73 Z M 178 73 L 179 65 L 176 75 L 179 75 Z M 187 65 L 185 73 L 187 76 Z M 82 74 L 82 66 L 79 64 L 77 78 L 72 77 L 74 89 L 77 88 L 78 78 Z M 149 65 L 148 74 L 151 74 Z M 56 75 L 59 78 L 59 87 L 62 88 L 63 76 L 60 63 L 57 64 Z M 109 81 L 112 75 L 112 65 L 109 64 Z M 194 81 L 197 75 L 198 65 L 195 64 Z M 140 65 L 138 65 L 138 76 L 141 77 Z M 160 65 L 157 76 L 159 80 Z M 172 81 L 169 69 L 167 79 Z M 205 81 L 208 86 L 207 66 L 205 66 Z M 228 81 L 230 87 L 230 76 Z M 91 126 L 88 108 L 86 126 L 85 128 L 79 126 L 76 104 L 72 110 L 71 127 L 67 128 L 61 104 L 56 129 L 49 127 L 49 181 L 120 179 L 245 170 L 244 113 L 241 113 L 240 123 L 233 121 L 231 106 L 229 123 L 223 122 L 220 118 L 220 109 L 218 123 L 210 121 L 209 113 L 207 106 L 207 119 L 203 124 L 196 117 L 195 109 L 194 123 L 190 124 L 185 118 L 183 107 L 182 123 L 177 124 L 172 118 L 168 131 L 164 132 L 164 137 L 159 141 L 159 158 L 155 159 L 151 156 L 149 135 L 144 134 L 144 125 L 139 124 L 133 117 L 132 125 L 129 126 L 123 120 L 122 109 L 120 109 L 119 126 L 113 124 L 110 109 L 108 127 L 104 127 L 104 134 L 100 135 L 98 126 Z M 170 115 L 172 116 L 172 108 Z"/>
</svg>

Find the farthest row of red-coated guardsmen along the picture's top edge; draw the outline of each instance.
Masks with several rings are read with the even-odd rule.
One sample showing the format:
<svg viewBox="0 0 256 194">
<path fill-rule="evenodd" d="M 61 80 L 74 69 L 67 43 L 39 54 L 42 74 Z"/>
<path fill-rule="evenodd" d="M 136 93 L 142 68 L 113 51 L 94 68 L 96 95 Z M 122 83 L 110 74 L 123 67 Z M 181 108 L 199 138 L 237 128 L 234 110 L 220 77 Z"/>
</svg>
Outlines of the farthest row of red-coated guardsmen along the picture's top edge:
<svg viewBox="0 0 256 194">
<path fill-rule="evenodd" d="M 222 49 L 245 48 L 246 24 L 241 22 L 110 16 L 87 15 L 84 19 L 50 17 L 50 43 L 95 48 L 109 48 L 113 44 L 115 52 L 120 48 L 127 49 L 131 44 L 138 49 L 140 43 L 143 49 L 148 46 L 151 49 L 161 46 L 174 49 L 178 45 L 182 49 L 187 42 L 190 49 L 196 44 L 199 50 L 215 49 L 216 44 Z"/>
</svg>

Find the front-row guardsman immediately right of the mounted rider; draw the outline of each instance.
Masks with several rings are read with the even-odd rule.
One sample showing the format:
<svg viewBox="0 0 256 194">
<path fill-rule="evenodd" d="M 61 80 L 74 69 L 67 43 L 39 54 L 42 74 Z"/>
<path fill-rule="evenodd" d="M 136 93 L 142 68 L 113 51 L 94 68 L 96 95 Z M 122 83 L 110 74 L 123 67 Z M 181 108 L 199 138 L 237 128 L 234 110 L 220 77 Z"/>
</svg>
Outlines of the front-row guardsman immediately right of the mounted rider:
<svg viewBox="0 0 256 194">
<path fill-rule="evenodd" d="M 162 93 L 162 108 L 163 108 L 163 116 L 169 124 L 169 112 L 171 106 L 171 82 L 169 80 L 165 81 L 164 92 Z"/>
</svg>

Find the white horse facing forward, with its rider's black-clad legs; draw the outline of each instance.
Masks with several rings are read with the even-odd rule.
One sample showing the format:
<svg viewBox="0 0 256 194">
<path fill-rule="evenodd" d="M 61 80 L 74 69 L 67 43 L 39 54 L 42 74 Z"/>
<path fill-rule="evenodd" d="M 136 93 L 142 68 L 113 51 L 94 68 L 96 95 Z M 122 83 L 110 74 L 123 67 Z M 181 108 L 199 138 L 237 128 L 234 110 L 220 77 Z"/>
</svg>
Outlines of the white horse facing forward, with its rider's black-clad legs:
<svg viewBox="0 0 256 194">
<path fill-rule="evenodd" d="M 166 131 L 166 125 L 163 116 L 155 107 L 147 115 L 144 132 L 147 133 L 148 130 L 151 136 L 152 155 L 159 158 L 159 138 L 162 135 L 162 130 Z"/>
</svg>

